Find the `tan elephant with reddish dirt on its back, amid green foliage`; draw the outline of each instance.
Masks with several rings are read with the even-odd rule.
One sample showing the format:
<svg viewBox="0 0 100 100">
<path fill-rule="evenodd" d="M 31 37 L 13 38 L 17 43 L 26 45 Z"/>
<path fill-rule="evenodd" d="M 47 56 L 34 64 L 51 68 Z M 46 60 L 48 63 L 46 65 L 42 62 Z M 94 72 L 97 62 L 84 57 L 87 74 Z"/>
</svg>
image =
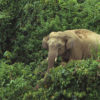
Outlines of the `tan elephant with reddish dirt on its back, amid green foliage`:
<svg viewBox="0 0 100 100">
<path fill-rule="evenodd" d="M 88 29 L 73 29 L 51 32 L 42 40 L 43 48 L 48 50 L 48 70 L 54 66 L 58 56 L 62 61 L 87 59 L 97 52 L 100 35 Z"/>
</svg>

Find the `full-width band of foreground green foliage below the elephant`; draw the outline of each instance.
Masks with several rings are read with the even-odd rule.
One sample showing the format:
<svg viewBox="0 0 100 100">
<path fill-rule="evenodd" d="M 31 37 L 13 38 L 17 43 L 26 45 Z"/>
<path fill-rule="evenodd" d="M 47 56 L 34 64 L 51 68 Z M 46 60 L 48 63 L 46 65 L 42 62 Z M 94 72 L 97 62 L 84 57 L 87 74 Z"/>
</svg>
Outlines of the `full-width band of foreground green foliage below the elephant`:
<svg viewBox="0 0 100 100">
<path fill-rule="evenodd" d="M 47 60 L 33 64 L 0 61 L 1 100 L 99 100 L 100 62 L 71 61 L 47 70 Z"/>
</svg>

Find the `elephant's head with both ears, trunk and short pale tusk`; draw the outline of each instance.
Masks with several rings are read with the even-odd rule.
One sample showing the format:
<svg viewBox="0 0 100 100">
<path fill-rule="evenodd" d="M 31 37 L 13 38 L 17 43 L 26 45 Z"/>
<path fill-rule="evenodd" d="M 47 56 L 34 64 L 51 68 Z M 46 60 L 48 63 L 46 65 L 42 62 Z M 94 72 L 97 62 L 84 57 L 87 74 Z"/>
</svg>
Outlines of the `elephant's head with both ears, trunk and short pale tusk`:
<svg viewBox="0 0 100 100">
<path fill-rule="evenodd" d="M 70 32 L 52 32 L 43 38 L 42 46 L 48 50 L 48 69 L 54 66 L 58 56 L 63 56 L 65 59 L 76 57 L 75 55 L 81 57 L 79 39 Z"/>
</svg>

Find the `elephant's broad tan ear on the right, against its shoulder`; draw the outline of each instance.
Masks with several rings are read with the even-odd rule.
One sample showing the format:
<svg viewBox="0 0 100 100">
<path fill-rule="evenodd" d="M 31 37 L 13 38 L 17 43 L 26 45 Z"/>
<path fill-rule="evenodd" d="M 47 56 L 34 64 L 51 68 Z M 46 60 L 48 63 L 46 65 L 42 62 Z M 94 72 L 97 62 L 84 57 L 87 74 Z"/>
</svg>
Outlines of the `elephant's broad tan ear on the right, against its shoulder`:
<svg viewBox="0 0 100 100">
<path fill-rule="evenodd" d="M 70 38 L 66 42 L 66 49 L 71 51 L 72 59 L 81 59 L 82 58 L 82 47 L 81 42 L 77 39 Z"/>
</svg>

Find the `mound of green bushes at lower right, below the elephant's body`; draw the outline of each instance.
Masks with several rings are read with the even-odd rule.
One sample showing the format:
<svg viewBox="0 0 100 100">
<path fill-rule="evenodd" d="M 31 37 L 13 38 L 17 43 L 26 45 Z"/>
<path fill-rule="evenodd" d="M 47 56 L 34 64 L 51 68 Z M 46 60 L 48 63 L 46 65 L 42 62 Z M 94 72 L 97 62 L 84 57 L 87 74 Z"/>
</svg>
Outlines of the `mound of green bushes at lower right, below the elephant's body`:
<svg viewBox="0 0 100 100">
<path fill-rule="evenodd" d="M 33 92 L 34 100 L 99 100 L 100 68 L 95 60 L 72 61 L 46 73 Z"/>
</svg>

